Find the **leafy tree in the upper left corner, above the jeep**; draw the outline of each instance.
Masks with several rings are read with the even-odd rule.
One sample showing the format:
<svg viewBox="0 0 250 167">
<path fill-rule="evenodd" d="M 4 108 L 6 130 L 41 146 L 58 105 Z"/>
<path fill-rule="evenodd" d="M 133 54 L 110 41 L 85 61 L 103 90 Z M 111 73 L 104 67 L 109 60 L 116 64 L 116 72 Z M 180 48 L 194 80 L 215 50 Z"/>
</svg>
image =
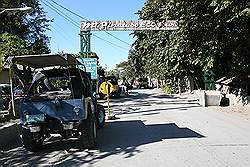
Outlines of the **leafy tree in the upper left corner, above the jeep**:
<svg viewBox="0 0 250 167">
<path fill-rule="evenodd" d="M 49 53 L 49 22 L 38 0 L 2 0 L 1 8 L 32 7 L 32 12 L 3 12 L 0 14 L 0 57 L 9 55 Z M 6 47 L 6 48 L 5 48 Z"/>
</svg>

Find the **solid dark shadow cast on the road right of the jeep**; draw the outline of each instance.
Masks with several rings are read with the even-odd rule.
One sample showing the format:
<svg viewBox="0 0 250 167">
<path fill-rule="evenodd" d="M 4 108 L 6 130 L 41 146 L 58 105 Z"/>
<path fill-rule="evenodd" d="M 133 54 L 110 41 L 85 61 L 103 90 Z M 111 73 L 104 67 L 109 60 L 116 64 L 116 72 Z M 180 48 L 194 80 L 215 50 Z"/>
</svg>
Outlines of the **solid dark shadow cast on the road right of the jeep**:
<svg viewBox="0 0 250 167">
<path fill-rule="evenodd" d="M 163 139 L 202 138 L 203 135 L 180 128 L 175 123 L 145 125 L 143 121 L 115 121 L 100 134 L 99 150 L 110 152 L 116 148 L 127 149 L 162 141 Z"/>
</svg>

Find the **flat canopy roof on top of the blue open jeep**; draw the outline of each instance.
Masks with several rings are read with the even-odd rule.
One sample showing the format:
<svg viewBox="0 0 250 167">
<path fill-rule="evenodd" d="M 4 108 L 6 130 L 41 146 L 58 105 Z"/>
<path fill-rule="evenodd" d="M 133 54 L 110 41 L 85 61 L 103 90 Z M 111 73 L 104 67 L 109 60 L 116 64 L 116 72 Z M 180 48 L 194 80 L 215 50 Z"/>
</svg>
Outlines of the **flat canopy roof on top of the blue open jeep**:
<svg viewBox="0 0 250 167">
<path fill-rule="evenodd" d="M 72 54 L 40 54 L 8 57 L 7 62 L 29 66 L 31 68 L 43 68 L 52 66 L 82 65 Z"/>
</svg>

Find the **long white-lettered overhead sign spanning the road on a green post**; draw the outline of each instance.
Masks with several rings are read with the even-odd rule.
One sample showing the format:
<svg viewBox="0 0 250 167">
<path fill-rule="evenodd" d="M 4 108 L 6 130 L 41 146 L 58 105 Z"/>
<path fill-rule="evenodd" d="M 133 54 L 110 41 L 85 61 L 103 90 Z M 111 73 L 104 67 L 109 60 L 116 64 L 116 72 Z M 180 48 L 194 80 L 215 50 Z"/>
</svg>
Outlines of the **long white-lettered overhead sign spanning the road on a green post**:
<svg viewBox="0 0 250 167">
<path fill-rule="evenodd" d="M 137 21 L 82 21 L 81 31 L 136 31 L 136 30 L 176 30 L 175 20 L 155 22 L 151 20 Z"/>
</svg>

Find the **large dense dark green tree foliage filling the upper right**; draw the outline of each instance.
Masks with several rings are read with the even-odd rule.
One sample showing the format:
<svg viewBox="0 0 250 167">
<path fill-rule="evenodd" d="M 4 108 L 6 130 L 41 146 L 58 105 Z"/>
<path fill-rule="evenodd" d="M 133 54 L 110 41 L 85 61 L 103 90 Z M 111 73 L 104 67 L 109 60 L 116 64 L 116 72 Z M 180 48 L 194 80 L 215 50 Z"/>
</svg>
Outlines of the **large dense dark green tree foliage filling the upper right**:
<svg viewBox="0 0 250 167">
<path fill-rule="evenodd" d="M 250 17 L 247 0 L 148 0 L 142 20 L 177 20 L 175 31 L 135 31 L 134 68 L 158 79 L 192 76 L 203 87 L 203 73 L 216 77 L 250 73 Z M 138 72 L 139 73 L 139 72 Z"/>
</svg>

